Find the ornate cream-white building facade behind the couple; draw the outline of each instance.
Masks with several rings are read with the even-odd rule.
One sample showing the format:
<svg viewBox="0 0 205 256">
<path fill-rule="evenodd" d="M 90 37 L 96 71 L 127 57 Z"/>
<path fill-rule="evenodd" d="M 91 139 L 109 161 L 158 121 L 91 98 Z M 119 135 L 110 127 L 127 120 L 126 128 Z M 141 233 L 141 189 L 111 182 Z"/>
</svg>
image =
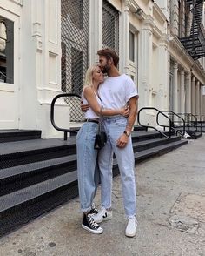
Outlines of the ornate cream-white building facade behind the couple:
<svg viewBox="0 0 205 256">
<path fill-rule="evenodd" d="M 203 1 L 195 0 L 0 0 L 0 129 L 59 137 L 50 125 L 52 99 L 63 91 L 80 94 L 85 71 L 106 46 L 135 81 L 139 108 L 202 118 L 202 21 Z M 82 124 L 79 101 L 58 100 L 55 118 L 61 127 Z M 146 111 L 142 121 L 156 125 L 155 112 Z"/>
</svg>

